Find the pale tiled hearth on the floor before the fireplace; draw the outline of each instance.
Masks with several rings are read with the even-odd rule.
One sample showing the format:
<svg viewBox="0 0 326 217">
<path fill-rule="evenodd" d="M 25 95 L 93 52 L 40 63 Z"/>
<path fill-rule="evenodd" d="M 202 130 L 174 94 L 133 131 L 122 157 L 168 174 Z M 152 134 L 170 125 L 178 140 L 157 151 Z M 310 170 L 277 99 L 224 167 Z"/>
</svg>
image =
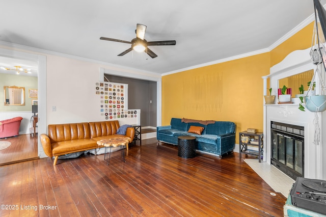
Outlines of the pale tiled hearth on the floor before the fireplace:
<svg viewBox="0 0 326 217">
<path fill-rule="evenodd" d="M 275 192 L 280 192 L 284 197 L 288 197 L 293 183 L 295 182 L 282 171 L 267 164 L 267 162 L 258 162 L 257 159 L 244 159 L 251 167 Z"/>
</svg>

